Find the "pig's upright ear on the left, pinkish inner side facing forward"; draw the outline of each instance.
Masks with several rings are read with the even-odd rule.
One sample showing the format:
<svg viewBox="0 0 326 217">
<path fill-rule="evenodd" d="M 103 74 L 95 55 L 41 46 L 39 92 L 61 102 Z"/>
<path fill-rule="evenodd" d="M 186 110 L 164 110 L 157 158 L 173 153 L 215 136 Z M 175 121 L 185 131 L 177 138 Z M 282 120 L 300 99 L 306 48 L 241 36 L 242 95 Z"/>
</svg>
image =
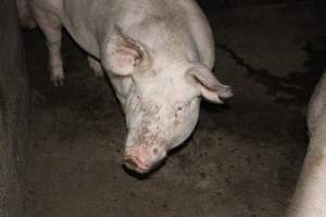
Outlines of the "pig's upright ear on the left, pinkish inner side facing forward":
<svg viewBox="0 0 326 217">
<path fill-rule="evenodd" d="M 105 42 L 101 61 L 106 71 L 128 76 L 148 65 L 148 55 L 143 46 L 117 34 Z"/>
</svg>

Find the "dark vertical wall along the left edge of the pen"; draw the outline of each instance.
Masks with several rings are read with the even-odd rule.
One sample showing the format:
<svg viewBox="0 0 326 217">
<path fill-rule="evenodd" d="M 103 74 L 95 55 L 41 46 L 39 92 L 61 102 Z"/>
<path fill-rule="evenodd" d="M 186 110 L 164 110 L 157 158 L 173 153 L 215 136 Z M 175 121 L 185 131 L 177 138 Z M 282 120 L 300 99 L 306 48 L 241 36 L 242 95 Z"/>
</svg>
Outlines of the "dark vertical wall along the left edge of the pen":
<svg viewBox="0 0 326 217">
<path fill-rule="evenodd" d="M 14 1 L 1 1 L 0 29 L 0 216 L 23 217 L 29 89 Z"/>
</svg>

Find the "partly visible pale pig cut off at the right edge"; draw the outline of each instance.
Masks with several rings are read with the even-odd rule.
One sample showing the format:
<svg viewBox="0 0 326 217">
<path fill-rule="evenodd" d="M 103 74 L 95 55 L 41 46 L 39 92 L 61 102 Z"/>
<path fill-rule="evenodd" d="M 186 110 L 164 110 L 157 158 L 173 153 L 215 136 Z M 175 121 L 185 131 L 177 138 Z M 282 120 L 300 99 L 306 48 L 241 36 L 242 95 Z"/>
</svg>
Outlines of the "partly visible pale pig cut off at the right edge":
<svg viewBox="0 0 326 217">
<path fill-rule="evenodd" d="M 326 74 L 308 110 L 310 142 L 288 217 L 326 217 Z"/>
</svg>

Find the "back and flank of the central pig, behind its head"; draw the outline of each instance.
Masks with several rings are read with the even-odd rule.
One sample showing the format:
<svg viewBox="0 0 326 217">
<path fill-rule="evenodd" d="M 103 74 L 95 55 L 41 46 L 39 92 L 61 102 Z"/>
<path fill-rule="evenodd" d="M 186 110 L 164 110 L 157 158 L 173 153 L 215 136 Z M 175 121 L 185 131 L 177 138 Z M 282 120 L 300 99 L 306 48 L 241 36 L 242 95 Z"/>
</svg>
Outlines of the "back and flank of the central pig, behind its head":
<svg viewBox="0 0 326 217">
<path fill-rule="evenodd" d="M 213 67 L 214 43 L 211 28 L 195 0 L 30 0 L 37 8 L 55 13 L 63 26 L 87 52 L 99 58 L 100 46 L 118 26 L 136 40 L 153 41 L 154 35 L 168 42 L 173 53 L 188 52 Z M 158 17 L 165 28 L 158 29 Z M 154 33 L 147 23 L 153 27 Z M 151 24 L 152 23 L 152 24 Z M 156 29 L 155 29 L 156 28 Z M 164 41 L 164 37 L 166 40 Z M 176 46 L 175 46 L 176 44 Z M 163 48 L 164 46 L 162 46 Z M 196 52 L 196 53 L 195 53 Z M 198 56 L 196 56 L 198 55 Z"/>
</svg>

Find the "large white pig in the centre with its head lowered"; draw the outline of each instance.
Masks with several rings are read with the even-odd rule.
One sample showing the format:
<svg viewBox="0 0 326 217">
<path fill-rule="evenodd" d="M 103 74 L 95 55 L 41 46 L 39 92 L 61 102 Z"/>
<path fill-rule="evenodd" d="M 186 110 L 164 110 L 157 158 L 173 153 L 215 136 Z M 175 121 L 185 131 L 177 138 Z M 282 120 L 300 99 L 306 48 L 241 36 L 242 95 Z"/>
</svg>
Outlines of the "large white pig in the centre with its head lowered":
<svg viewBox="0 0 326 217">
<path fill-rule="evenodd" d="M 148 173 L 192 132 L 201 97 L 231 97 L 211 73 L 214 42 L 195 0 L 29 0 L 46 36 L 51 79 L 63 82 L 61 28 L 108 74 L 126 116 L 123 161 Z"/>
</svg>

